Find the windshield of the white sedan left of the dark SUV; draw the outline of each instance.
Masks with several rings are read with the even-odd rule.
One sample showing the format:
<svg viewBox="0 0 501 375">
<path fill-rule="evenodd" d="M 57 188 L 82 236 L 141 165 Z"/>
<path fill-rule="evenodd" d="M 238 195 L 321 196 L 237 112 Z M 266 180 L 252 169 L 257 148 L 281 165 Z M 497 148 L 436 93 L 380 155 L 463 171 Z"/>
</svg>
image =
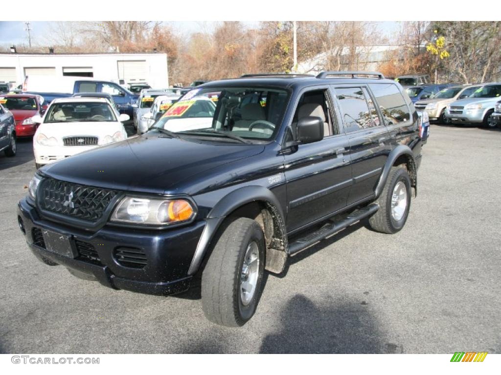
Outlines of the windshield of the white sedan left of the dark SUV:
<svg viewBox="0 0 501 375">
<path fill-rule="evenodd" d="M 71 102 L 54 103 L 47 112 L 45 123 L 77 121 L 116 121 L 108 103 Z"/>
</svg>

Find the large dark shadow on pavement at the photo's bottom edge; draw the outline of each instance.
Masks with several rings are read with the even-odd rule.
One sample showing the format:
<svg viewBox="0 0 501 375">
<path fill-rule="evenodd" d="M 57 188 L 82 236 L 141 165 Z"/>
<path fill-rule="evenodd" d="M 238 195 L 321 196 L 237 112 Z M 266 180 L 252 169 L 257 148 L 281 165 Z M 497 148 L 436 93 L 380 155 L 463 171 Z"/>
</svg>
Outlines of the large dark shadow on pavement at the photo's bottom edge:
<svg viewBox="0 0 501 375">
<path fill-rule="evenodd" d="M 280 322 L 279 331 L 263 339 L 260 353 L 403 352 L 400 345 L 384 342 L 377 322 L 358 302 L 318 306 L 296 294 L 282 309 Z"/>
</svg>

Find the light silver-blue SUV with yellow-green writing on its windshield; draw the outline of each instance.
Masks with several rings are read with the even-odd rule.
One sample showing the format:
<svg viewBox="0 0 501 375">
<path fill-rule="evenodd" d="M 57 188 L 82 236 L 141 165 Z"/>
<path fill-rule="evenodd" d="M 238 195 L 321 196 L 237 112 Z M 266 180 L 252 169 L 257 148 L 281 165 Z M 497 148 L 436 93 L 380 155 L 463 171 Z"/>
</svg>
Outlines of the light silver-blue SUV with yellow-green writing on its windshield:
<svg viewBox="0 0 501 375">
<path fill-rule="evenodd" d="M 465 99 L 456 100 L 445 110 L 445 117 L 452 123 L 476 123 L 495 127 L 492 118 L 494 105 L 501 97 L 501 83 L 486 83 Z"/>
</svg>

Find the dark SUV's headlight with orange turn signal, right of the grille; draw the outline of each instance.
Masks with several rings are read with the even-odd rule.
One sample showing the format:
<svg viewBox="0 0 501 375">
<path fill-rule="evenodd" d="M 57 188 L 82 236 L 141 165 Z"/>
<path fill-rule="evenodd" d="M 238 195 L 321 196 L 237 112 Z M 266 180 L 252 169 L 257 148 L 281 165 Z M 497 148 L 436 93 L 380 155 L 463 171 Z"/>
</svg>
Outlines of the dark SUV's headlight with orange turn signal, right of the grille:
<svg viewBox="0 0 501 375">
<path fill-rule="evenodd" d="M 165 225 L 188 221 L 195 210 L 186 199 L 126 196 L 115 208 L 111 221 Z"/>
</svg>

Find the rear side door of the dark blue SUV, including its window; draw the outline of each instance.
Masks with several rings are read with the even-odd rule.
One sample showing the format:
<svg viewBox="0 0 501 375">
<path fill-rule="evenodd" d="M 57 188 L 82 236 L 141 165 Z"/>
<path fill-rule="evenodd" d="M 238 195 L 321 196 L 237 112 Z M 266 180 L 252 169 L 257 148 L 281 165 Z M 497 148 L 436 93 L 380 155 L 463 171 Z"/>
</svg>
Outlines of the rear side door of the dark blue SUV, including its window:
<svg viewBox="0 0 501 375">
<path fill-rule="evenodd" d="M 335 92 L 350 144 L 353 175 L 347 201 L 350 205 L 374 194 L 391 142 L 367 85 L 336 86 Z"/>
</svg>

